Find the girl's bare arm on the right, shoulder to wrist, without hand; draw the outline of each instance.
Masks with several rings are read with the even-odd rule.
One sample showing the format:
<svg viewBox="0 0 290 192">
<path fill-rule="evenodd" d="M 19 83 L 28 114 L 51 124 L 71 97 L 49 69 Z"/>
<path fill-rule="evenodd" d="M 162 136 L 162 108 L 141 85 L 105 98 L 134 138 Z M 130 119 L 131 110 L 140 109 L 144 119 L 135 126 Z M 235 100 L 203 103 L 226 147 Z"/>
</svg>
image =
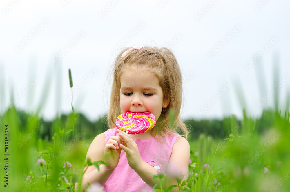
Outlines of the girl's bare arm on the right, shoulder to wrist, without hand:
<svg viewBox="0 0 290 192">
<path fill-rule="evenodd" d="M 173 148 L 172 148 L 172 154 L 168 162 L 168 168 L 171 168 L 173 170 L 178 170 L 177 172 L 179 173 L 182 171 L 182 175 L 184 175 L 184 177 L 181 180 L 181 183 L 184 180 L 186 180 L 188 176 L 189 157 L 190 157 L 190 146 L 189 146 L 188 141 L 184 137 L 177 137 L 175 144 L 173 145 Z M 155 169 L 154 167 L 152 167 L 151 165 L 143 161 L 142 164 L 135 171 L 142 178 L 142 180 L 144 180 L 144 182 L 147 183 L 149 186 L 153 187 L 155 184 L 157 184 L 157 189 L 160 188 L 160 180 L 157 179 L 153 181 L 152 180 L 153 175 L 145 173 L 145 172 L 149 172 L 152 174 L 156 174 L 157 169 Z M 166 171 L 166 170 L 163 170 L 163 171 Z M 176 179 L 168 176 L 167 174 L 165 176 L 166 178 L 164 179 L 167 179 L 167 182 L 162 183 L 162 188 L 167 189 L 170 185 L 175 185 L 175 184 L 177 185 Z"/>
</svg>

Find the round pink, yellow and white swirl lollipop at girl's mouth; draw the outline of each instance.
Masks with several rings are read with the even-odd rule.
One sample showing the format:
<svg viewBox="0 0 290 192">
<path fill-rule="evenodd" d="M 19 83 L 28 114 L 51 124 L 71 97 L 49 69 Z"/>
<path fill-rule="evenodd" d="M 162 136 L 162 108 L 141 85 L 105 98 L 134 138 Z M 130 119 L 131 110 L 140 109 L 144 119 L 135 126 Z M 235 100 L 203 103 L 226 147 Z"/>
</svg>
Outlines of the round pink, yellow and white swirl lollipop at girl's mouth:
<svg viewBox="0 0 290 192">
<path fill-rule="evenodd" d="M 155 125 L 155 116 L 152 113 L 132 113 L 130 111 L 119 115 L 116 126 L 129 134 L 140 134 L 149 131 Z"/>
</svg>

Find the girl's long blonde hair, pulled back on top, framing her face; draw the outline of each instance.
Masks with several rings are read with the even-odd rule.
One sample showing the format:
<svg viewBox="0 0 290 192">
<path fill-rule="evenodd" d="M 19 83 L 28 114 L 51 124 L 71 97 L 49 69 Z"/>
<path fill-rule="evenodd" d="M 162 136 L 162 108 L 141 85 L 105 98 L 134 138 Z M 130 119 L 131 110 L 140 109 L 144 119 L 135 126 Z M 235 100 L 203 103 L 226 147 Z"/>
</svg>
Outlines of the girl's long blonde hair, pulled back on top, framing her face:
<svg viewBox="0 0 290 192">
<path fill-rule="evenodd" d="M 172 51 L 165 47 L 160 49 L 157 47 L 143 47 L 142 49 L 129 51 L 124 57 L 121 57 L 122 53 L 128 49 L 122 49 L 113 64 L 113 84 L 108 113 L 108 125 L 110 128 L 115 128 L 115 121 L 118 115 L 121 114 L 119 91 L 122 72 L 131 66 L 137 66 L 139 71 L 149 69 L 153 72 L 155 69 L 158 69 L 160 70 L 159 73 L 155 74 L 162 88 L 163 101 L 167 96 L 170 102 L 166 108 L 162 108 L 160 117 L 153 128 L 153 136 L 156 138 L 160 134 L 162 137 L 170 134 L 169 132 L 171 131 L 186 138 L 189 131 L 179 116 L 182 105 L 181 71 Z M 169 115 L 169 111 L 174 111 L 175 115 Z"/>
</svg>

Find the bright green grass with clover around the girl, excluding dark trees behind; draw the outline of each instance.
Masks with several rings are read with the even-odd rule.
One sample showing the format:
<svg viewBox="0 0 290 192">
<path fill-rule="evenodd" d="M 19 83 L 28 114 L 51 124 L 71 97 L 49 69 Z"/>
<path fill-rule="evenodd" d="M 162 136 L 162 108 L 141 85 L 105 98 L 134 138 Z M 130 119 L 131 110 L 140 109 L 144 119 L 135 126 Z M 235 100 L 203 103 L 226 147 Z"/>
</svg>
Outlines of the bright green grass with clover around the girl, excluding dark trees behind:
<svg viewBox="0 0 290 192">
<path fill-rule="evenodd" d="M 233 129 L 238 122 L 233 116 L 227 118 L 233 122 L 227 128 L 232 130 L 232 135 L 226 139 L 201 134 L 190 141 L 192 163 L 186 185 L 181 187 L 183 191 L 288 191 L 289 113 L 269 110 L 263 114 L 271 118 L 272 123 L 262 132 L 255 129 L 256 120 L 247 116 L 238 129 Z M 83 135 L 77 129 L 74 142 L 72 129 L 59 127 L 59 120 L 55 119 L 52 129 L 57 131 L 52 141 L 46 141 L 39 138 L 41 118 L 28 115 L 25 127 L 21 118 L 14 107 L 1 115 L 0 191 L 74 191 L 74 183 L 85 167 L 88 146 L 95 136 L 82 140 Z M 3 145 L 5 125 L 9 126 L 7 153 Z M 6 175 L 4 154 L 9 154 L 8 189 L 3 180 Z M 38 165 L 38 159 L 44 159 L 46 164 Z M 63 168 L 66 161 L 72 164 L 70 169 Z M 201 171 L 204 164 L 209 165 L 209 170 Z"/>
</svg>

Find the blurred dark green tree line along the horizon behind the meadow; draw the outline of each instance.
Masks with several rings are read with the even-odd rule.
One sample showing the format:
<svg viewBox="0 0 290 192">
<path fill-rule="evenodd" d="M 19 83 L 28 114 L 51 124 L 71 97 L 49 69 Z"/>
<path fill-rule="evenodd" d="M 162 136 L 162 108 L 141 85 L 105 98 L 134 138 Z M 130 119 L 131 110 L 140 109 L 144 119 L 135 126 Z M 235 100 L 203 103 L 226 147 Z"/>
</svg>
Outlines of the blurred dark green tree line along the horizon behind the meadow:
<svg viewBox="0 0 290 192">
<path fill-rule="evenodd" d="M 28 114 L 23 111 L 17 111 L 21 121 L 21 127 L 23 129 L 27 126 Z M 273 126 L 273 118 L 269 118 L 273 115 L 272 112 L 264 110 L 261 117 L 254 120 L 253 129 L 259 133 L 262 133 L 264 129 L 268 129 Z M 106 115 L 100 117 L 95 122 L 88 120 L 82 113 L 75 114 L 75 128 L 77 139 L 93 141 L 93 139 L 108 130 L 108 124 L 106 123 Z M 229 137 L 229 134 L 239 133 L 242 128 L 242 121 L 236 119 L 235 115 L 225 117 L 222 120 L 200 120 L 195 119 L 184 120 L 186 126 L 189 127 L 190 139 L 197 139 L 200 134 L 212 136 L 213 138 L 220 139 Z M 55 128 L 53 128 L 55 127 Z M 59 132 L 59 127 L 69 130 L 73 129 L 73 115 L 62 114 L 60 117 L 56 117 L 51 121 L 45 121 L 43 118 L 39 119 L 39 123 L 35 127 L 39 138 L 51 141 L 55 132 Z M 56 130 L 53 130 L 56 129 Z M 82 131 L 84 130 L 84 131 Z M 73 138 L 73 132 L 66 135 L 66 140 Z"/>
</svg>

